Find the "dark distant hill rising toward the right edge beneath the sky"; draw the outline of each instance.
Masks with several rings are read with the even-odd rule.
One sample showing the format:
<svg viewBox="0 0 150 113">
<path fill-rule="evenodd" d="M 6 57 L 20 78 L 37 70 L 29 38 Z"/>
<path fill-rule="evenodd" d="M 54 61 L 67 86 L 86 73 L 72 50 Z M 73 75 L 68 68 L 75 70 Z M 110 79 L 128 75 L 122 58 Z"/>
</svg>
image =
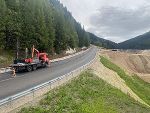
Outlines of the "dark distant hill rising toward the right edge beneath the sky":
<svg viewBox="0 0 150 113">
<path fill-rule="evenodd" d="M 150 49 L 150 32 L 119 43 L 121 49 Z"/>
</svg>

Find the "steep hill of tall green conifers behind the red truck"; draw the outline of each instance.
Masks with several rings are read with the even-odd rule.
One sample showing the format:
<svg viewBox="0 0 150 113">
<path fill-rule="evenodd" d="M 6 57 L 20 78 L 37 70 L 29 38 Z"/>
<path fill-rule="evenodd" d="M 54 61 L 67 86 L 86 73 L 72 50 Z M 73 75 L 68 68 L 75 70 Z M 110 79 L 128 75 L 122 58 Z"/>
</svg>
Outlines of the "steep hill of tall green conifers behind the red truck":
<svg viewBox="0 0 150 113">
<path fill-rule="evenodd" d="M 89 46 L 89 34 L 58 0 L 0 0 L 0 49 L 60 53 Z"/>
</svg>

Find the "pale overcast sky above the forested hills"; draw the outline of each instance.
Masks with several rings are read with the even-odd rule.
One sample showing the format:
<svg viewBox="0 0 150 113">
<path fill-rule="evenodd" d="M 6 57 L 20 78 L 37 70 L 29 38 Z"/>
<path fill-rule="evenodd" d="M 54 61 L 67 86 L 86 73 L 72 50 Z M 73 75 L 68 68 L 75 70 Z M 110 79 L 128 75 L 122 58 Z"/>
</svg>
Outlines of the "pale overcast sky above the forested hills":
<svg viewBox="0 0 150 113">
<path fill-rule="evenodd" d="M 150 0 L 60 0 L 84 28 L 114 42 L 150 31 Z"/>
</svg>

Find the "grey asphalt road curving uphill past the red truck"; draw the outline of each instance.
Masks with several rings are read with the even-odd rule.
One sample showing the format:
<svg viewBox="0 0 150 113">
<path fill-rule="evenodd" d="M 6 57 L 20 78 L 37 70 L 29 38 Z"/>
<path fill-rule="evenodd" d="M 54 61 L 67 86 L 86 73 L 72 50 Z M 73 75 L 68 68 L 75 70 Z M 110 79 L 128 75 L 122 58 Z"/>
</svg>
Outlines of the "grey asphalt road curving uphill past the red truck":
<svg viewBox="0 0 150 113">
<path fill-rule="evenodd" d="M 51 63 L 49 68 L 38 69 L 33 72 L 18 73 L 15 78 L 12 78 L 9 74 L 1 74 L 0 100 L 44 82 L 48 82 L 49 80 L 67 74 L 83 66 L 95 57 L 96 51 L 97 48 L 92 47 L 83 54 L 63 61 Z"/>
</svg>

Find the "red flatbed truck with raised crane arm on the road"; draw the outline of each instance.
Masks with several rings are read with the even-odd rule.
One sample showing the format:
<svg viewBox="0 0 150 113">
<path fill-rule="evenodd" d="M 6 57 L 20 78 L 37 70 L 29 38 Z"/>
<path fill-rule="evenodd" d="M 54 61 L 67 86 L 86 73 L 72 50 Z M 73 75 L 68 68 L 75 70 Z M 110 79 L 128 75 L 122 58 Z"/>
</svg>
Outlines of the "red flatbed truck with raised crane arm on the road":
<svg viewBox="0 0 150 113">
<path fill-rule="evenodd" d="M 36 52 L 36 57 L 34 54 Z M 47 53 L 40 53 L 37 49 L 32 48 L 32 58 L 26 59 L 16 59 L 14 64 L 11 64 L 10 67 L 13 67 L 16 72 L 20 71 L 35 71 L 39 67 L 47 67 L 50 65 L 50 60 Z"/>
</svg>

